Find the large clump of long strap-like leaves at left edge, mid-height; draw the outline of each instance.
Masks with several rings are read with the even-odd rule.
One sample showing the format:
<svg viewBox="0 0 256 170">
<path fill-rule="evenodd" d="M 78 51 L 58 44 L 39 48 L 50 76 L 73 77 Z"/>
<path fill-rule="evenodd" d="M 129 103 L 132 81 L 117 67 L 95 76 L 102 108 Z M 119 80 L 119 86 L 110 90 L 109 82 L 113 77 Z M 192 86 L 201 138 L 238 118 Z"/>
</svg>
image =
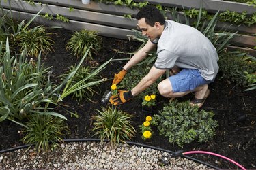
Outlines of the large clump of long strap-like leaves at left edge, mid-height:
<svg viewBox="0 0 256 170">
<path fill-rule="evenodd" d="M 25 51 L 18 56 L 11 56 L 7 39 L 0 67 L 0 121 L 8 119 L 23 125 L 20 120 L 32 114 L 65 118 L 48 108 L 50 103 L 56 104 L 52 100 L 50 68 L 40 64 L 40 54 L 37 63 L 27 61 Z"/>
</svg>

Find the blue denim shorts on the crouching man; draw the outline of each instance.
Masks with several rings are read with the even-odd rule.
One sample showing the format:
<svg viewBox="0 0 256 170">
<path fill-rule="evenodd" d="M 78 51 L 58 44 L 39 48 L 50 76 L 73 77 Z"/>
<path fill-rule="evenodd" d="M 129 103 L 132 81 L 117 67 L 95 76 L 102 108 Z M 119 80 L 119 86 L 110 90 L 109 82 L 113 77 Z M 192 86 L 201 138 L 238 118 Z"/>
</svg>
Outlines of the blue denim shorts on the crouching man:
<svg viewBox="0 0 256 170">
<path fill-rule="evenodd" d="M 180 73 L 169 77 L 173 92 L 187 92 L 194 90 L 203 84 L 209 84 L 212 81 L 204 80 L 198 69 L 182 69 Z"/>
</svg>

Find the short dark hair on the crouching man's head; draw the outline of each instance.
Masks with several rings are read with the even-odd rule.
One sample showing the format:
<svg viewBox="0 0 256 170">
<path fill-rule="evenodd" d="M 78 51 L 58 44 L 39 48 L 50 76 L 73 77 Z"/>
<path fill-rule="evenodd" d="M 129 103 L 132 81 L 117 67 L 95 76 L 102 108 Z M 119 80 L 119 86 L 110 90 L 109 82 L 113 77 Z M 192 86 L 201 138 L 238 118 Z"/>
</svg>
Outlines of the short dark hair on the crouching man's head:
<svg viewBox="0 0 256 170">
<path fill-rule="evenodd" d="M 152 5 L 147 5 L 138 12 L 135 17 L 137 20 L 141 18 L 145 18 L 146 24 L 149 24 L 151 27 L 154 27 L 155 22 L 159 22 L 160 24 L 165 24 L 165 17 L 162 16 L 160 10 Z"/>
</svg>

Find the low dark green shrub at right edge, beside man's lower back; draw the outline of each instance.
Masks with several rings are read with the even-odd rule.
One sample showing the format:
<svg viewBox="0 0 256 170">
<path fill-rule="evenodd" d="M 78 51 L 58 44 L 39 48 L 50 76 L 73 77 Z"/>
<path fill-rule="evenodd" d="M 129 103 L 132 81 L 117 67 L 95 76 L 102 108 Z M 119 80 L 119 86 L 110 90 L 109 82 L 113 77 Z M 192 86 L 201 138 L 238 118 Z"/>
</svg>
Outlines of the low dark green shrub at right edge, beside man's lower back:
<svg viewBox="0 0 256 170">
<path fill-rule="evenodd" d="M 221 78 L 242 86 L 248 85 L 244 71 L 248 74 L 256 71 L 256 61 L 246 56 L 226 55 L 220 58 L 218 65 Z"/>
</svg>

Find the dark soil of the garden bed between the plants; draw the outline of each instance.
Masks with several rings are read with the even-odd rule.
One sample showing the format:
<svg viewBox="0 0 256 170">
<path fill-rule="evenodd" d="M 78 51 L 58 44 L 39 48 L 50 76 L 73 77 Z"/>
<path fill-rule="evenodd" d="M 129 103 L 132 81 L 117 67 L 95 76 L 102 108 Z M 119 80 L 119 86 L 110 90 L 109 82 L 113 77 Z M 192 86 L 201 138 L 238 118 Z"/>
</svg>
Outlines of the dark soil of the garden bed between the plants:
<svg viewBox="0 0 256 170">
<path fill-rule="evenodd" d="M 55 52 L 43 57 L 43 61 L 46 66 L 53 66 L 53 81 L 58 81 L 58 75 L 68 70 L 70 65 L 75 65 L 80 61 L 65 50 L 65 45 L 70 38 L 72 31 L 66 31 L 64 29 L 53 30 L 57 33 L 54 35 L 55 40 Z M 128 58 L 128 54 L 117 54 L 113 49 L 120 50 L 122 52 L 134 52 L 141 45 L 138 42 L 126 41 L 122 39 L 114 39 L 110 37 L 102 37 L 104 41 L 103 49 L 94 55 L 93 60 L 85 61 L 85 65 L 101 65 L 109 58 Z M 106 78 L 113 78 L 113 75 L 117 72 L 119 66 L 124 65 L 125 61 L 113 61 L 109 64 L 102 76 Z M 66 105 L 66 109 L 79 114 L 79 118 L 71 117 L 61 107 L 57 107 L 56 112 L 65 115 L 68 118 L 67 124 L 70 128 L 70 134 L 65 136 L 66 139 L 81 139 L 92 138 L 91 132 L 91 116 L 96 114 L 96 109 L 100 107 L 106 107 L 106 104 L 101 103 L 101 97 L 105 90 L 109 90 L 112 80 L 108 80 L 100 85 L 100 91 L 98 95 L 94 96 L 95 103 L 91 103 L 87 100 L 78 103 L 74 99 L 67 97 L 64 99 L 61 105 Z M 184 148 L 180 148 L 173 143 L 169 143 L 166 137 L 162 137 L 158 134 L 156 128 L 154 128 L 154 135 L 150 141 L 143 141 L 141 139 L 141 132 L 139 126 L 145 120 L 145 114 L 141 112 L 141 103 L 137 100 L 131 100 L 124 105 L 119 106 L 124 112 L 128 112 L 134 117 L 132 118 L 132 124 L 137 129 L 137 135 L 132 141 L 137 143 L 145 143 L 150 146 L 156 146 L 171 151 L 177 150 L 204 150 L 208 152 L 214 152 L 221 154 L 227 158 L 231 158 L 240 165 L 246 167 L 246 169 L 256 169 L 256 95 L 255 90 L 245 92 L 240 86 L 230 84 L 227 80 L 221 79 L 221 73 L 218 73 L 218 77 L 215 82 L 210 84 L 211 94 L 205 101 L 202 109 L 207 111 L 212 110 L 215 114 L 214 120 L 218 121 L 218 128 L 216 129 L 216 135 L 214 139 L 207 143 L 193 142 L 184 145 Z M 128 90 L 128 89 L 127 89 Z M 187 95 L 182 99 L 192 99 L 192 95 Z M 158 114 L 158 110 L 162 109 L 163 103 L 167 103 L 168 99 L 158 97 L 158 107 L 154 108 L 153 114 Z M 151 115 L 152 116 L 152 115 Z M 14 124 L 10 121 L 4 121 L 0 124 L 0 150 L 12 148 L 15 146 L 21 146 L 20 142 L 22 134 L 19 131 L 22 130 L 22 126 Z M 205 154 L 190 155 L 199 160 L 210 163 L 221 169 L 238 169 L 236 165 L 229 161 L 218 158 L 216 156 L 210 156 Z"/>
</svg>

